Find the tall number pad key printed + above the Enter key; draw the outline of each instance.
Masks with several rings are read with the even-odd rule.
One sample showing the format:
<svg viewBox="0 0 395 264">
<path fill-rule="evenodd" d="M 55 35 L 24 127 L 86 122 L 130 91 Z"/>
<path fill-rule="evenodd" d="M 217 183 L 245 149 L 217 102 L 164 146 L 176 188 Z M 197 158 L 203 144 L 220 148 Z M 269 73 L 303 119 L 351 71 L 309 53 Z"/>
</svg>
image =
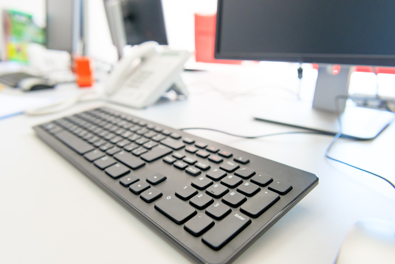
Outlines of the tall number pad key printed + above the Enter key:
<svg viewBox="0 0 395 264">
<path fill-rule="evenodd" d="M 277 193 L 269 190 L 263 190 L 243 204 L 240 207 L 240 212 L 249 217 L 258 218 L 279 199 L 280 196 Z"/>
</svg>

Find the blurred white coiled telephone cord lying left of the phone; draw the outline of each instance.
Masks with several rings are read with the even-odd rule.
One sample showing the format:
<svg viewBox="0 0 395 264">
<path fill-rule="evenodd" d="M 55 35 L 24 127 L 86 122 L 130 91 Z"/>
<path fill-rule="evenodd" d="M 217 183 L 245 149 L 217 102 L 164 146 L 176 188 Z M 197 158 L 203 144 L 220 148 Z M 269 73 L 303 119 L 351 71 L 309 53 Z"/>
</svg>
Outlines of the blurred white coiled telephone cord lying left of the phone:
<svg viewBox="0 0 395 264">
<path fill-rule="evenodd" d="M 104 96 L 104 93 L 95 93 L 95 92 L 89 92 L 89 93 L 83 93 L 81 95 L 78 95 L 76 97 L 66 99 L 66 100 L 61 100 L 56 103 L 52 103 L 40 108 L 30 108 L 26 109 L 24 113 L 28 116 L 40 116 L 40 115 L 47 115 L 47 114 L 52 114 L 58 111 L 65 110 L 77 102 L 80 101 L 89 101 L 89 100 L 96 100 L 100 99 Z"/>
</svg>

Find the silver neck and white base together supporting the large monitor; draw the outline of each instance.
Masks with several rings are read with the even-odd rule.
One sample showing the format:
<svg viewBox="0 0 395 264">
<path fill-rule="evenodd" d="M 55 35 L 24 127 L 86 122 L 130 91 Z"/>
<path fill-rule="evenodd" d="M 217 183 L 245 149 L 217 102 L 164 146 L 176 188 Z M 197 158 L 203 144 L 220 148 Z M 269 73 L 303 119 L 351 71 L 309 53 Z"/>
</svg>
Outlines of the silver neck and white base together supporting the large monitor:
<svg viewBox="0 0 395 264">
<path fill-rule="evenodd" d="M 320 65 L 313 107 L 311 103 L 302 101 L 268 100 L 253 116 L 257 120 L 334 135 L 340 129 L 337 113 L 342 112 L 340 120 L 343 137 L 373 139 L 395 119 L 395 114 L 363 107 L 346 107 L 345 99 L 338 100 L 336 106 L 337 95 L 348 95 L 351 73 L 350 66 L 342 65 L 340 72 L 333 75 L 331 65 Z"/>
</svg>

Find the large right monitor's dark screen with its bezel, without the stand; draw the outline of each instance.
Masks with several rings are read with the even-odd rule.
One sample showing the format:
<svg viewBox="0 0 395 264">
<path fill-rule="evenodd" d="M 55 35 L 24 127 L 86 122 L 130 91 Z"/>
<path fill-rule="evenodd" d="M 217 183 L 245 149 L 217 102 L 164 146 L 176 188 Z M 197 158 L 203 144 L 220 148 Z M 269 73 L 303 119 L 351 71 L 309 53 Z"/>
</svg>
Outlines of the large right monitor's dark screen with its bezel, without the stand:
<svg viewBox="0 0 395 264">
<path fill-rule="evenodd" d="M 218 0 L 215 57 L 395 66 L 395 1 Z"/>
</svg>

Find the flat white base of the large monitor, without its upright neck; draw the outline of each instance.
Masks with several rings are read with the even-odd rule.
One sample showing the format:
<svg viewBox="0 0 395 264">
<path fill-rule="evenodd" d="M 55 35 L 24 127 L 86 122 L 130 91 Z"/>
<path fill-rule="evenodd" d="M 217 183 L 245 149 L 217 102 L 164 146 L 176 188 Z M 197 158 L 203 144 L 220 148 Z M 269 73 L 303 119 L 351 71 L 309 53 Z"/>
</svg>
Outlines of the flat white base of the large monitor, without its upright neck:
<svg viewBox="0 0 395 264">
<path fill-rule="evenodd" d="M 337 115 L 312 108 L 311 103 L 270 101 L 254 110 L 261 121 L 335 135 L 339 132 Z M 395 119 L 395 114 L 370 108 L 347 106 L 341 115 L 343 137 L 373 139 Z"/>
</svg>

